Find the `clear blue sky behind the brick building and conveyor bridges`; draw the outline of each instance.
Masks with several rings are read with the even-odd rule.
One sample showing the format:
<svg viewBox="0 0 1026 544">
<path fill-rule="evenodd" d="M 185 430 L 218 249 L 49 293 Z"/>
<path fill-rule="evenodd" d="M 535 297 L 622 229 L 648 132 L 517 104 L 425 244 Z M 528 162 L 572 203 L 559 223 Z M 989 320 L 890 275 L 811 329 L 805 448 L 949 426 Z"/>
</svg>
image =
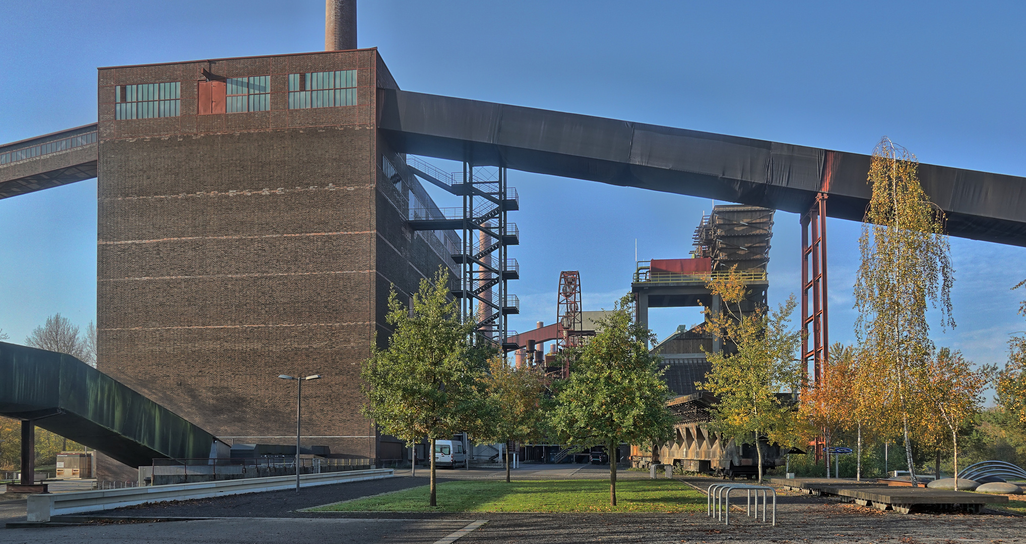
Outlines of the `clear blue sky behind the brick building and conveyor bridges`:
<svg viewBox="0 0 1026 544">
<path fill-rule="evenodd" d="M 12 2 L 0 21 L 0 142 L 94 122 L 95 68 L 320 50 L 323 2 Z M 359 45 L 402 88 L 1026 176 L 1021 2 L 359 3 Z M 555 319 L 560 270 L 610 307 L 639 259 L 687 257 L 709 200 L 510 172 L 522 312 Z M 0 200 L 0 328 L 21 342 L 61 312 L 95 315 L 95 181 Z M 447 204 L 444 195 L 439 204 Z M 831 220 L 831 339 L 854 340 L 860 226 Z M 797 216 L 778 212 L 771 301 L 798 289 Z M 1026 248 L 953 239 L 954 331 L 939 344 L 1003 362 L 1026 329 L 1010 287 Z M 654 310 L 662 338 L 700 319 Z"/>
</svg>

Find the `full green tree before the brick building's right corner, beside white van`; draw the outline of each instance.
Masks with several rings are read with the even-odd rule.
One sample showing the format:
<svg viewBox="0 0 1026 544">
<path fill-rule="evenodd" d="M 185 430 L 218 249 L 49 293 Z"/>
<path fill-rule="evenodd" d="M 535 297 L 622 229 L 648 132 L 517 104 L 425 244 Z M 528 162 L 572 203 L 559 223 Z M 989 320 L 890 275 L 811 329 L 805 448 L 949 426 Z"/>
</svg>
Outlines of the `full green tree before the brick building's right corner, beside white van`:
<svg viewBox="0 0 1026 544">
<path fill-rule="evenodd" d="M 435 440 L 463 431 L 483 432 L 492 421 L 484 384 L 495 348 L 471 342 L 474 323 L 460 322 L 448 284 L 448 271 L 441 267 L 431 281 L 422 279 L 412 311 L 392 288 L 386 316 L 393 326 L 388 349 L 372 347 L 360 374 L 367 397 L 365 416 L 407 442 L 430 439 L 431 506 L 437 506 Z"/>
</svg>

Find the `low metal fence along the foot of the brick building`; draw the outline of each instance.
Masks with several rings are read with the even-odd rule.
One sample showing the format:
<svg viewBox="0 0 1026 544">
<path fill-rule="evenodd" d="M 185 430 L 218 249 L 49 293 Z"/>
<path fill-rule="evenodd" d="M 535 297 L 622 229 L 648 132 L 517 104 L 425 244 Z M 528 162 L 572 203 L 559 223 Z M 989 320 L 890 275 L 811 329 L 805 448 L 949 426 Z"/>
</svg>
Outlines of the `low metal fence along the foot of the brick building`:
<svg viewBox="0 0 1026 544">
<path fill-rule="evenodd" d="M 300 459 L 301 474 L 367 470 L 369 459 Z M 295 474 L 294 458 L 154 459 L 152 485 Z"/>
</svg>

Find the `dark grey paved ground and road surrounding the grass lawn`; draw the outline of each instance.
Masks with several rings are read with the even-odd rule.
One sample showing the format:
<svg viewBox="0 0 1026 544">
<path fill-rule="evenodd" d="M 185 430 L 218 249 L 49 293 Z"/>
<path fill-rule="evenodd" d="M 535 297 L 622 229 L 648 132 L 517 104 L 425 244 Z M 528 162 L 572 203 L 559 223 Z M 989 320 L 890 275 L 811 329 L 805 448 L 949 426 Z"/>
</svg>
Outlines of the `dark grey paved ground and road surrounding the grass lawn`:
<svg viewBox="0 0 1026 544">
<path fill-rule="evenodd" d="M 508 542 L 575 544 L 605 542 L 753 543 L 880 542 L 895 544 L 1023 542 L 1026 518 L 996 514 L 899 514 L 880 512 L 822 497 L 779 492 L 778 527 L 734 512 L 725 527 L 705 515 L 695 514 L 542 514 L 542 513 L 351 513 L 297 512 L 298 509 L 376 495 L 427 483 L 427 471 L 410 477 L 408 471 L 385 480 L 360 481 L 309 488 L 295 492 L 273 492 L 137 506 L 105 512 L 117 516 L 209 516 L 222 519 L 162 523 L 100 524 L 78 528 L 47 528 L 0 531 L 0 544 L 7 542 L 88 542 L 103 539 L 195 543 L 282 540 L 305 542 L 329 537 L 338 542 L 408 542 L 432 544 L 473 519 L 487 523 L 460 539 L 459 544 Z M 402 475 L 405 474 L 405 475 Z M 525 466 L 517 478 L 605 478 L 608 467 Z M 505 476 L 501 470 L 445 470 L 444 479 Z M 621 472 L 625 478 L 647 477 L 643 472 Z M 707 487 L 711 478 L 687 478 Z M 718 481 L 718 480 L 716 480 Z M 497 481 L 497 484 L 501 482 Z M 681 485 L 685 483 L 681 481 Z M 0 505 L 0 518 L 4 517 Z M 24 516 L 24 506 L 22 506 Z M 248 519 L 239 519 L 248 518 Z M 261 519 L 254 519 L 261 518 Z"/>
</svg>

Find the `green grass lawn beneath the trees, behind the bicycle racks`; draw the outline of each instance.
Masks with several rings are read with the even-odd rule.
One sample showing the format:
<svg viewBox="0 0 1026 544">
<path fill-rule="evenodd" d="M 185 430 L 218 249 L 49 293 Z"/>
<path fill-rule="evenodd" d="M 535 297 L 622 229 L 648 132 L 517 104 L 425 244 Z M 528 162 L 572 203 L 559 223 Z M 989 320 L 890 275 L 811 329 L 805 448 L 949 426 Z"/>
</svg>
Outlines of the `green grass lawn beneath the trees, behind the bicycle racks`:
<svg viewBox="0 0 1026 544">
<path fill-rule="evenodd" d="M 705 495 L 668 479 L 617 482 L 617 506 L 609 506 L 609 482 L 596 479 L 529 481 L 443 481 L 438 506 L 428 506 L 428 487 L 309 509 L 320 512 L 695 512 Z"/>
</svg>

